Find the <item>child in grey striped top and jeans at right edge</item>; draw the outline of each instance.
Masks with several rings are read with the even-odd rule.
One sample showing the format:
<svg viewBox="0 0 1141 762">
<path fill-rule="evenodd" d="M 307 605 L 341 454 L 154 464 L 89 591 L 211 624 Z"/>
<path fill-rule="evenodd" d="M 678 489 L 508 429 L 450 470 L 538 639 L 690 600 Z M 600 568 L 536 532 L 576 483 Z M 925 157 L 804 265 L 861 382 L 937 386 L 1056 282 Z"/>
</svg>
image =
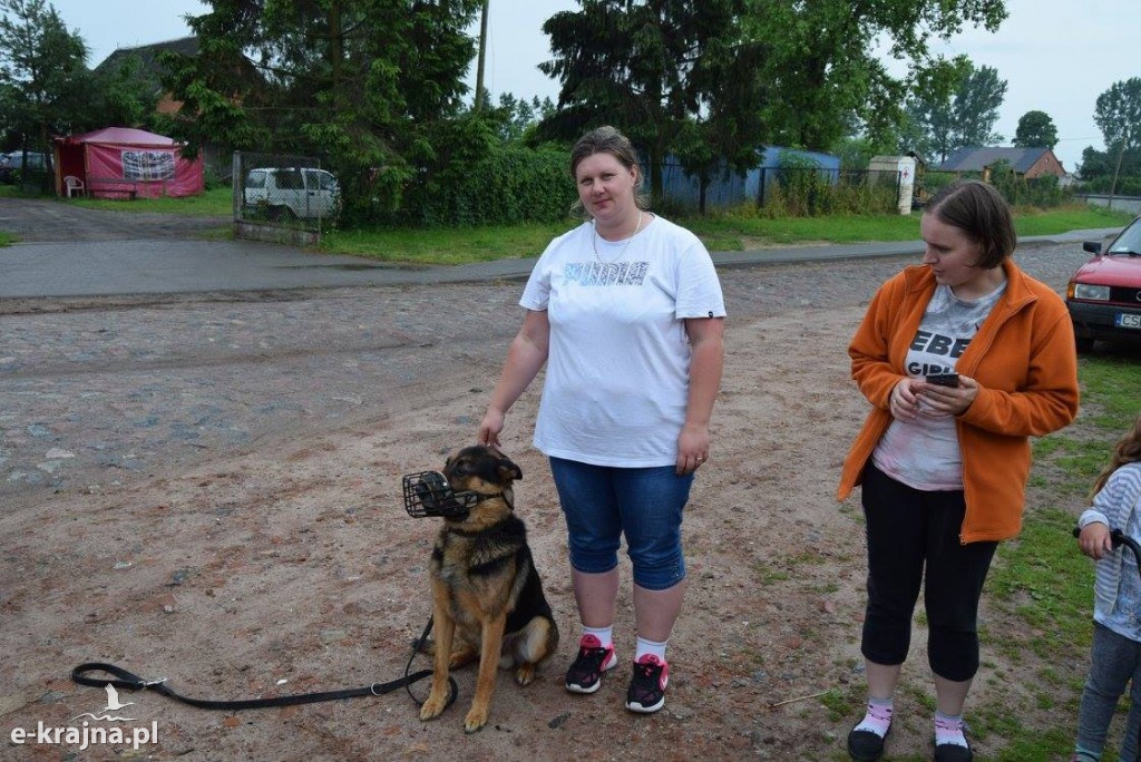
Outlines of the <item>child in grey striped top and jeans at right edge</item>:
<svg viewBox="0 0 1141 762">
<path fill-rule="evenodd" d="M 1120 762 L 1141 761 L 1141 560 L 1126 543 L 1114 545 L 1120 529 L 1141 542 L 1141 414 L 1114 448 L 1093 485 L 1093 505 L 1078 518 L 1078 545 L 1094 559 L 1093 647 L 1082 691 L 1077 740 L 1071 762 L 1100 760 L 1109 724 L 1125 687 L 1132 704 L 1122 740 Z"/>
</svg>

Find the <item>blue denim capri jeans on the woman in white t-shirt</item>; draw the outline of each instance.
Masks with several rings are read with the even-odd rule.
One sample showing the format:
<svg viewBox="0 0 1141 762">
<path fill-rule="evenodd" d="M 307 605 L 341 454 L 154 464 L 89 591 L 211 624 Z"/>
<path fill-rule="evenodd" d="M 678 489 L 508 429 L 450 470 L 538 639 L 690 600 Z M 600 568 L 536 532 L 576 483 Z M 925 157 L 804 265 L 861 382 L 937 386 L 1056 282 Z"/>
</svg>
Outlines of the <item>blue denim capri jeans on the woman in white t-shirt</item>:
<svg viewBox="0 0 1141 762">
<path fill-rule="evenodd" d="M 678 476 L 673 465 L 626 469 L 550 461 L 576 572 L 604 574 L 616 567 L 625 535 L 634 584 L 667 590 L 686 578 L 681 518 L 693 473 Z"/>
</svg>

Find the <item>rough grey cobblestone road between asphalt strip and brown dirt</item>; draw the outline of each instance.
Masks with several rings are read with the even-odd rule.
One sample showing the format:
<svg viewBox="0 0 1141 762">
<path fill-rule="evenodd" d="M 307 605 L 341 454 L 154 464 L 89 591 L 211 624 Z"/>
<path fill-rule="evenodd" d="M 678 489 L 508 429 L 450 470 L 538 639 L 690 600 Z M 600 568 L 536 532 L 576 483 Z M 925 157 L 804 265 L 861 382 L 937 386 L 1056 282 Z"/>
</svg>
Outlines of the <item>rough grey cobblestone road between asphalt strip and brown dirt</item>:
<svg viewBox="0 0 1141 762">
<path fill-rule="evenodd" d="M 1071 244 L 1019 254 L 1057 289 Z M 734 322 L 865 303 L 908 258 L 735 267 Z M 513 335 L 517 283 L 70 300 L 3 316 L 0 495 L 103 489 L 253 443 L 382 416 L 439 373 L 488 383 Z M 852 326 L 855 329 L 855 326 Z M 842 363 L 843 358 L 828 362 Z"/>
</svg>

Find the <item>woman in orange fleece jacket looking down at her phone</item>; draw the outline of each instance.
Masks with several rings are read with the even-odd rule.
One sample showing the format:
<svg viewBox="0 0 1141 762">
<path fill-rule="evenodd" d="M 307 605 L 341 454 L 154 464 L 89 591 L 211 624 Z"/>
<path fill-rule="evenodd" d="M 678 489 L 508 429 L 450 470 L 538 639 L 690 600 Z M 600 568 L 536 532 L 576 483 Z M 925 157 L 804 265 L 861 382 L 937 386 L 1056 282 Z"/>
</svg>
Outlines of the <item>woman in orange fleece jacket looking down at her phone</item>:
<svg viewBox="0 0 1141 762">
<path fill-rule="evenodd" d="M 1069 424 L 1078 405 L 1069 314 L 1011 261 L 1017 240 L 1002 196 L 984 183 L 953 184 L 920 227 L 922 266 L 880 287 L 848 350 L 873 406 L 837 492 L 844 500 L 863 485 L 867 524 L 868 704 L 848 735 L 855 760 L 883 754 L 921 586 L 934 759 L 972 759 L 962 715 L 979 666 L 982 583 L 998 541 L 1021 528 L 1029 437 Z M 928 380 L 940 374 L 953 386 Z"/>
</svg>

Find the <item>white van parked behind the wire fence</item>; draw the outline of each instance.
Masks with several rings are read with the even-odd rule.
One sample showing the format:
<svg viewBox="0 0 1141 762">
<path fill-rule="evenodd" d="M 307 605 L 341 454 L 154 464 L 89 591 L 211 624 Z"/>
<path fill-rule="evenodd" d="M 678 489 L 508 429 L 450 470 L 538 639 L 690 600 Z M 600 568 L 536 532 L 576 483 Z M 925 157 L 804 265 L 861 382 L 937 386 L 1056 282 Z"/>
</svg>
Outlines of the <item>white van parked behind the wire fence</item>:
<svg viewBox="0 0 1141 762">
<path fill-rule="evenodd" d="M 334 217 L 341 188 L 332 172 L 311 167 L 262 167 L 245 175 L 248 212 L 269 219 Z"/>
</svg>

